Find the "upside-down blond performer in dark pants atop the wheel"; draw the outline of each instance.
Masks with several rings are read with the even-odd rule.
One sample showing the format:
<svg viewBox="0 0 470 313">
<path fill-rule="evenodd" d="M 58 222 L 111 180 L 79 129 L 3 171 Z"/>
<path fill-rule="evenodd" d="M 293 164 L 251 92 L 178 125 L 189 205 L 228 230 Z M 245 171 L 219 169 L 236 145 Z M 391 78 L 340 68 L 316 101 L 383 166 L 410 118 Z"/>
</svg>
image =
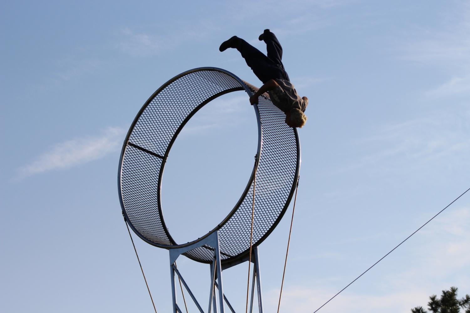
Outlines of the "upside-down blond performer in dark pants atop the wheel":
<svg viewBox="0 0 470 313">
<path fill-rule="evenodd" d="M 267 56 L 242 38 L 233 36 L 224 41 L 220 52 L 227 48 L 235 48 L 245 59 L 246 64 L 263 83 L 258 92 L 250 98 L 251 105 L 258 103 L 258 97 L 268 92 L 273 104 L 286 115 L 286 124 L 289 127 L 302 127 L 307 121 L 304 114 L 308 105 L 308 98 L 300 98 L 294 85 L 290 83 L 289 76 L 282 65 L 282 46 L 274 33 L 266 29 L 258 38 L 266 43 Z"/>
</svg>

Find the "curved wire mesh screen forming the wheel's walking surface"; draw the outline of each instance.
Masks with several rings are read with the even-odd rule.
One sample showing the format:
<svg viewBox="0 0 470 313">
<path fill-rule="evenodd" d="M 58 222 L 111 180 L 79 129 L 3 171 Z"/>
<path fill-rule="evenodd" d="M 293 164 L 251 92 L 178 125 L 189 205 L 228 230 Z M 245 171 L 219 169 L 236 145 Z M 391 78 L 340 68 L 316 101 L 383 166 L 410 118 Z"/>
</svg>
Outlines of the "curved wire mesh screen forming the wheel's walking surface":
<svg viewBox="0 0 470 313">
<path fill-rule="evenodd" d="M 149 244 L 178 246 L 168 232 L 160 201 L 162 173 L 171 146 L 184 124 L 197 110 L 227 92 L 257 88 L 233 74 L 215 68 L 194 69 L 164 84 L 147 103 L 129 130 L 121 154 L 119 187 L 121 205 L 132 229 Z M 248 101 L 248 98 L 247 98 Z M 299 147 L 295 129 L 265 94 L 259 97 L 262 145 L 256 172 L 253 244 L 261 243 L 282 218 L 290 203 L 298 176 Z M 250 178 L 250 177 L 249 177 Z M 222 261 L 242 257 L 250 248 L 253 176 L 239 205 L 227 208 L 229 215 L 219 230 Z M 204 236 L 205 237 L 205 236 Z M 204 245 L 188 258 L 208 263 L 213 247 Z"/>
</svg>

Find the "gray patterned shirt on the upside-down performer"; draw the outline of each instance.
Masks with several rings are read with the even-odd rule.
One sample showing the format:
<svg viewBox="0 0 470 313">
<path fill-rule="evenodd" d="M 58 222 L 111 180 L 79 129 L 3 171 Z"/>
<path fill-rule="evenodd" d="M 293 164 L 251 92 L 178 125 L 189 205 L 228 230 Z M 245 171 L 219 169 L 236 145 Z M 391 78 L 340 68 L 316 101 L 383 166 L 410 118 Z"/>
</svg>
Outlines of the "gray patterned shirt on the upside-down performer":
<svg viewBox="0 0 470 313">
<path fill-rule="evenodd" d="M 300 98 L 294 85 L 284 79 L 275 79 L 275 81 L 279 86 L 268 91 L 269 98 L 271 98 L 273 104 L 284 113 L 290 112 L 292 109 L 299 109 L 305 112 L 308 102 Z"/>
</svg>

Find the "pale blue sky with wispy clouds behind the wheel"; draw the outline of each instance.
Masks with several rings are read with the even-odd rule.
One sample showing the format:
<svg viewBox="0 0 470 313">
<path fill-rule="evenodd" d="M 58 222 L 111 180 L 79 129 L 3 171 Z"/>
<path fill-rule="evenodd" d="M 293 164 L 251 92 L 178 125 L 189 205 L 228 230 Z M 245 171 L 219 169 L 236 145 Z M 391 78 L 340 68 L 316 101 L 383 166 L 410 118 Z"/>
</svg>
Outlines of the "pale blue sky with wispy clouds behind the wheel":
<svg viewBox="0 0 470 313">
<path fill-rule="evenodd" d="M 188 69 L 260 86 L 218 47 L 237 35 L 264 52 L 265 28 L 310 100 L 280 312 L 315 311 L 470 188 L 469 21 L 459 0 L 2 3 L 0 311 L 153 312 L 118 200 L 125 133 Z M 256 137 L 243 92 L 191 119 L 162 187 L 177 241 L 231 210 Z M 277 309 L 291 210 L 259 246 L 265 312 Z M 466 194 L 319 312 L 410 312 L 451 286 L 470 294 L 469 223 Z M 168 251 L 133 238 L 157 311 L 171 312 Z M 206 307 L 208 266 L 178 267 Z M 247 271 L 224 271 L 237 312 Z"/>
</svg>

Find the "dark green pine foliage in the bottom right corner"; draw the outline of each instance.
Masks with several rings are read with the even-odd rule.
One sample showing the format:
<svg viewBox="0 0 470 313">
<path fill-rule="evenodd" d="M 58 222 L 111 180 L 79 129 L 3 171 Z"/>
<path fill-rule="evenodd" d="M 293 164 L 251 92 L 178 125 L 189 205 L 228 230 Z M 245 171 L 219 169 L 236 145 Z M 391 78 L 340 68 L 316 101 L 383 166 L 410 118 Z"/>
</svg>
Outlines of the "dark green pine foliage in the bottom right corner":
<svg viewBox="0 0 470 313">
<path fill-rule="evenodd" d="M 457 287 L 442 290 L 440 298 L 436 295 L 429 297 L 429 311 L 424 310 L 422 306 L 416 306 L 411 309 L 411 313 L 460 313 L 460 309 L 465 310 L 464 313 L 470 313 L 470 296 L 465 295 L 459 300 L 457 291 Z"/>
</svg>

